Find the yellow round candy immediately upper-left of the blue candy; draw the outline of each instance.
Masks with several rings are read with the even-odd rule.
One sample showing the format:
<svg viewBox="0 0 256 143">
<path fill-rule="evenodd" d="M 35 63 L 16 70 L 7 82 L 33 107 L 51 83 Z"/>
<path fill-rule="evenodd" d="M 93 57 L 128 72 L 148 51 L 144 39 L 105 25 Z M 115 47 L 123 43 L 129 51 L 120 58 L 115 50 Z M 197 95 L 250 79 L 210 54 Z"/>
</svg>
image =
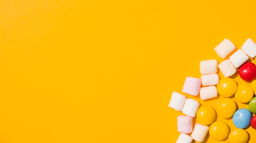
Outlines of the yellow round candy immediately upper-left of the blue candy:
<svg viewBox="0 0 256 143">
<path fill-rule="evenodd" d="M 217 104 L 217 113 L 224 119 L 231 118 L 236 112 L 236 102 L 230 98 L 224 98 Z"/>
</svg>

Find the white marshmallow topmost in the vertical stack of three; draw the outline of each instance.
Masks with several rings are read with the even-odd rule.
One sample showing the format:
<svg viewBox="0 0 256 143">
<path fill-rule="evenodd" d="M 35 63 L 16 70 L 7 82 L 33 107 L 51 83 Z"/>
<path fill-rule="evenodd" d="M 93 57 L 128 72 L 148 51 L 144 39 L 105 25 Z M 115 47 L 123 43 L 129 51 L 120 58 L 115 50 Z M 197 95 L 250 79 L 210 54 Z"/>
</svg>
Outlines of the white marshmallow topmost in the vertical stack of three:
<svg viewBox="0 0 256 143">
<path fill-rule="evenodd" d="M 200 61 L 200 73 L 201 74 L 214 74 L 217 73 L 218 61 L 213 60 L 204 60 Z"/>
</svg>

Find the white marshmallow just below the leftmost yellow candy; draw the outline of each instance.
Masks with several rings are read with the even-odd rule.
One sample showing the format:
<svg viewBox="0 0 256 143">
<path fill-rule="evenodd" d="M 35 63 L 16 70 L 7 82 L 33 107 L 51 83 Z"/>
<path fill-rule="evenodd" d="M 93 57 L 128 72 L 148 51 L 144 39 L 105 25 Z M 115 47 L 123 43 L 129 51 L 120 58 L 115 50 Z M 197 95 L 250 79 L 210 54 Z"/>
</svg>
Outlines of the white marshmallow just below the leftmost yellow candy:
<svg viewBox="0 0 256 143">
<path fill-rule="evenodd" d="M 191 134 L 191 137 L 195 141 L 202 143 L 204 141 L 208 131 L 209 131 L 209 126 L 202 125 L 200 123 L 196 123 L 194 130 Z"/>
</svg>

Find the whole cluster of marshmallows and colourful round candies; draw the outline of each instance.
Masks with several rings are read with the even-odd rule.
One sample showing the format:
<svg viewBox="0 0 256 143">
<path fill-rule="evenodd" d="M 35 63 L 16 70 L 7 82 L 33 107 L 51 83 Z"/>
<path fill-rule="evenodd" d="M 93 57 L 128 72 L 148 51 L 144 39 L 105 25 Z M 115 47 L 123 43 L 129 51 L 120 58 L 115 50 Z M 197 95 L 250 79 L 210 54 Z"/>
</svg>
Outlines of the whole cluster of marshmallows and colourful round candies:
<svg viewBox="0 0 256 143">
<path fill-rule="evenodd" d="M 235 45 L 228 39 L 224 39 L 218 44 L 214 50 L 220 58 L 226 58 L 233 50 Z M 216 111 L 208 105 L 200 106 L 200 103 L 191 98 L 173 91 L 169 107 L 176 111 L 181 111 L 185 115 L 177 117 L 177 130 L 180 132 L 176 143 L 191 143 L 193 140 L 203 142 L 207 133 L 225 143 L 227 137 L 230 143 L 246 143 L 249 135 L 244 130 L 249 125 L 256 129 L 256 116 L 252 117 L 252 113 L 256 114 L 256 66 L 254 63 L 248 62 L 249 57 L 255 58 L 256 44 L 252 39 L 247 39 L 229 58 L 218 64 L 217 60 L 204 60 L 200 62 L 200 78 L 187 77 L 182 92 L 188 95 L 200 95 L 201 100 L 209 100 L 217 98 L 218 95 L 224 97 L 217 104 L 217 113 L 224 119 L 231 119 L 236 129 L 229 132 L 229 126 L 222 121 L 216 120 Z M 219 79 L 218 69 L 225 78 Z M 239 69 L 239 71 L 238 71 Z M 240 78 L 246 83 L 237 84 L 230 76 L 239 72 Z M 201 85 L 203 87 L 201 87 Z M 236 102 L 230 97 L 235 98 L 245 104 L 249 102 L 249 110 L 241 108 L 237 110 Z M 197 123 L 193 128 L 193 117 L 197 118 Z M 191 135 L 189 135 L 191 133 Z"/>
</svg>

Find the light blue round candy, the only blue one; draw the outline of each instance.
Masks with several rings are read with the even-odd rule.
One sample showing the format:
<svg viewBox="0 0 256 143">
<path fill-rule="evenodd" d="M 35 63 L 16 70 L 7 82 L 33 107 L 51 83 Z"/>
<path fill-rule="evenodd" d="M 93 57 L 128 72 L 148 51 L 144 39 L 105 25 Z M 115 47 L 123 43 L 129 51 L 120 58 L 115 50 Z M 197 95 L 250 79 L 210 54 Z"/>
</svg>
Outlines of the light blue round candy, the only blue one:
<svg viewBox="0 0 256 143">
<path fill-rule="evenodd" d="M 252 119 L 252 113 L 245 108 L 238 109 L 233 115 L 233 123 L 236 128 L 244 129 L 249 126 Z"/>
</svg>

